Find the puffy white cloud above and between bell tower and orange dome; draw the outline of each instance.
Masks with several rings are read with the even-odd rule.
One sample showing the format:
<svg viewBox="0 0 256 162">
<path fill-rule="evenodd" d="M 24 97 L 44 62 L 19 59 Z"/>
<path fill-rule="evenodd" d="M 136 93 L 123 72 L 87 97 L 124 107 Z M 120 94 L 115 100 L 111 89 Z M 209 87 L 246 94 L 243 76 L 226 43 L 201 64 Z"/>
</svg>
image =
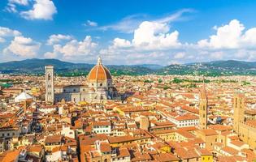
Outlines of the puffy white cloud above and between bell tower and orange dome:
<svg viewBox="0 0 256 162">
<path fill-rule="evenodd" d="M 91 36 L 85 36 L 82 41 L 70 40 L 65 45 L 54 45 L 52 53 L 45 53 L 45 57 L 61 56 L 63 59 L 79 59 L 94 54 L 94 49 L 98 46 L 92 41 Z M 85 58 L 84 58 L 85 59 Z"/>
</svg>

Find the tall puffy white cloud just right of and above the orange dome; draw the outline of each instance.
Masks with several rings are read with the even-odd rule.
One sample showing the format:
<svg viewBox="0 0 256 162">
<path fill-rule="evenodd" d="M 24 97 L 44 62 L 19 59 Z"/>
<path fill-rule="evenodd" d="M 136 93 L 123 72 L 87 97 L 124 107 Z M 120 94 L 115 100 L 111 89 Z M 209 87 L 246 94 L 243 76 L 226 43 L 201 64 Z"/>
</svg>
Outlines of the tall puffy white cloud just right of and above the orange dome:
<svg viewBox="0 0 256 162">
<path fill-rule="evenodd" d="M 134 31 L 132 41 L 115 38 L 109 49 L 153 51 L 180 48 L 179 32 L 169 31 L 170 27 L 167 23 L 145 21 Z"/>
</svg>

